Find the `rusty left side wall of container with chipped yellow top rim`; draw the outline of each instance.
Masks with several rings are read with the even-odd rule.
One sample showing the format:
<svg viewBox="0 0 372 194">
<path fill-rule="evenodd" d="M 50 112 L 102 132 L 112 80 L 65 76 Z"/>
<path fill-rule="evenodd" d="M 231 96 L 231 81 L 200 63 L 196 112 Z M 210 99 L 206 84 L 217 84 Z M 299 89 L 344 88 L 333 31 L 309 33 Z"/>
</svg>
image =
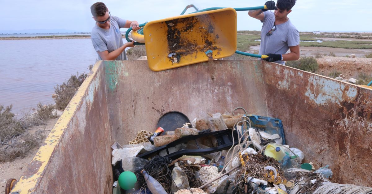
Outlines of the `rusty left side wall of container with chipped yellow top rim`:
<svg viewBox="0 0 372 194">
<path fill-rule="evenodd" d="M 93 67 L 12 193 L 112 193 L 103 68 Z"/>
</svg>

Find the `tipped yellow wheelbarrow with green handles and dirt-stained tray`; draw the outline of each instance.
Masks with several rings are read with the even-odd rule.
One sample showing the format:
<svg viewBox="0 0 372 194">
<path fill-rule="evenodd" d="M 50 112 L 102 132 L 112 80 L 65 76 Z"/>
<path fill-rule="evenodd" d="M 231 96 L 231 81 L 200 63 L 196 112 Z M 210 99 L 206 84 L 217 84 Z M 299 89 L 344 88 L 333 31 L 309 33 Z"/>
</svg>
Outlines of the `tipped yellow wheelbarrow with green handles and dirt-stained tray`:
<svg viewBox="0 0 372 194">
<path fill-rule="evenodd" d="M 140 25 L 137 32 L 129 28 L 125 38 L 128 42 L 129 32 L 136 45 L 146 47 L 148 66 L 153 71 L 219 59 L 234 53 L 266 58 L 236 51 L 237 49 L 237 14 L 236 11 L 266 9 L 265 6 L 246 8 L 212 7 L 180 16 L 155 20 Z"/>
</svg>

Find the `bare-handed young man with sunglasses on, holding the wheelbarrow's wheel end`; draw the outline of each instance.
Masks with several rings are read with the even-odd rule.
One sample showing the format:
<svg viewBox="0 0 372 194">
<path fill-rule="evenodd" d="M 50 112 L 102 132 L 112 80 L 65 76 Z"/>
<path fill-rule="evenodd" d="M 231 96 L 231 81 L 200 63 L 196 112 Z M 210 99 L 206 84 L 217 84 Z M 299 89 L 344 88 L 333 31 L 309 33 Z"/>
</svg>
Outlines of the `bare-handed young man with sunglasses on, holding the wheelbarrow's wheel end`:
<svg viewBox="0 0 372 194">
<path fill-rule="evenodd" d="M 134 47 L 134 41 L 123 44 L 120 28 L 139 30 L 138 22 L 112 16 L 102 2 L 94 3 L 90 11 L 96 21 L 90 37 L 99 60 L 127 60 L 125 48 Z"/>
</svg>

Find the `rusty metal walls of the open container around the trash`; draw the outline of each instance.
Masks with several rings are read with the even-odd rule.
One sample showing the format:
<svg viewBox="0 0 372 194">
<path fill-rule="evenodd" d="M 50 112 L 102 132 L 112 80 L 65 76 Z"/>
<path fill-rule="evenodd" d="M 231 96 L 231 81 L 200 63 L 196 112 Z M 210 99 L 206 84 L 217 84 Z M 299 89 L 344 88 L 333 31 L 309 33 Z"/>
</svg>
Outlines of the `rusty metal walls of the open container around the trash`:
<svg viewBox="0 0 372 194">
<path fill-rule="evenodd" d="M 333 182 L 371 187 L 371 99 L 367 88 L 264 61 L 160 72 L 146 61 L 99 61 L 12 191 L 110 193 L 113 142 L 154 131 L 167 111 L 192 120 L 240 106 L 282 119 L 288 144 L 316 168 L 329 164 Z"/>
</svg>

